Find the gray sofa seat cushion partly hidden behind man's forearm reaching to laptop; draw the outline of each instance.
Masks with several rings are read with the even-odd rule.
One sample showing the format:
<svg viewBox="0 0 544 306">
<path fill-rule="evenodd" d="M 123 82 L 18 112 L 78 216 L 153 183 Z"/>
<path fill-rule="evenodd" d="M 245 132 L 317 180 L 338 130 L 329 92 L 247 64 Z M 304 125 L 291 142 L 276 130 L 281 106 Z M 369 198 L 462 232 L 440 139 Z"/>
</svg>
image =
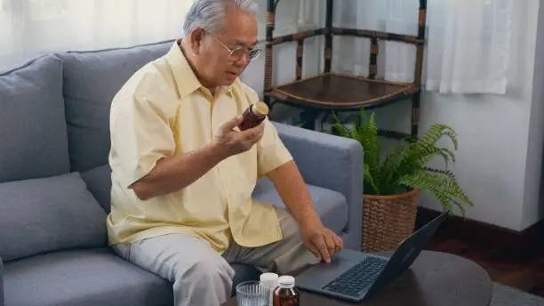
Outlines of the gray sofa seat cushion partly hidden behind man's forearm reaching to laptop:
<svg viewBox="0 0 544 306">
<path fill-rule="evenodd" d="M 317 213 L 324 226 L 340 234 L 348 223 L 348 202 L 340 192 L 321 187 L 307 185 L 310 196 L 314 200 Z M 268 178 L 260 179 L 253 191 L 253 198 L 261 202 L 271 203 L 278 207 L 285 207 L 284 202 Z"/>
</svg>

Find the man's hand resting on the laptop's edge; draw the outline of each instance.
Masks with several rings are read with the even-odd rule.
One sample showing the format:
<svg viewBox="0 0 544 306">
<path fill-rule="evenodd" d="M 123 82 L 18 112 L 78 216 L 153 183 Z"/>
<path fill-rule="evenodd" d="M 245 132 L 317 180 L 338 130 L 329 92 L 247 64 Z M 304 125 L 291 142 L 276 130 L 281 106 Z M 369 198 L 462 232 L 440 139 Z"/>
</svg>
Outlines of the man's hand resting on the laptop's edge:
<svg viewBox="0 0 544 306">
<path fill-rule="evenodd" d="M 331 257 L 342 249 L 342 239 L 323 225 L 302 227 L 301 234 L 308 251 L 324 262 L 331 262 Z"/>
</svg>

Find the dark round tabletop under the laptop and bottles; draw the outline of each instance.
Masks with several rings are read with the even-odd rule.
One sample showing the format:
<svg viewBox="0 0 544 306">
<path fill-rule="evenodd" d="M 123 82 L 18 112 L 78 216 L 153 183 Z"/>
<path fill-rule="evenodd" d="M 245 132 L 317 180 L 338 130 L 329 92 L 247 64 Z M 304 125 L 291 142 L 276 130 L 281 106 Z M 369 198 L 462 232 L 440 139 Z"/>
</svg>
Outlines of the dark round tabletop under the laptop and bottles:
<svg viewBox="0 0 544 306">
<path fill-rule="evenodd" d="M 381 253 L 389 255 L 390 253 Z M 357 305 L 300 291 L 301 306 Z M 454 254 L 423 251 L 402 276 L 383 287 L 365 306 L 488 306 L 492 280 L 468 259 Z M 223 306 L 237 306 L 236 298 Z"/>
</svg>

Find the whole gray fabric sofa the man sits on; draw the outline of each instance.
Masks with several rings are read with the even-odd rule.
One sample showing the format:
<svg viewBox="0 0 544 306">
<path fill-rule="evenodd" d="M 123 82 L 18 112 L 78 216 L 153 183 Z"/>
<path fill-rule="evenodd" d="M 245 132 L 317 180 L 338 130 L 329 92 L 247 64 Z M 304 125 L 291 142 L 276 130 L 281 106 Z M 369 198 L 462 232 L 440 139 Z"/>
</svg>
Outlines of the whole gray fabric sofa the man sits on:
<svg viewBox="0 0 544 306">
<path fill-rule="evenodd" d="M 47 54 L 0 75 L 0 306 L 172 305 L 172 284 L 113 253 L 104 222 L 109 102 L 171 44 Z M 361 146 L 276 126 L 324 223 L 358 248 Z M 283 205 L 267 180 L 254 197 Z M 234 267 L 235 283 L 257 277 Z"/>
</svg>

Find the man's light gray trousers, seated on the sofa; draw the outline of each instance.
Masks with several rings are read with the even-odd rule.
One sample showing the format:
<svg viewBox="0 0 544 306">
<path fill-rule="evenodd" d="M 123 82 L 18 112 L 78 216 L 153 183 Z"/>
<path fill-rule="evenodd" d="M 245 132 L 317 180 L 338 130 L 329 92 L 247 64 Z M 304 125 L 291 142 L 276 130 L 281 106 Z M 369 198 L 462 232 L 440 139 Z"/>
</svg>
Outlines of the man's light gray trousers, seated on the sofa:
<svg viewBox="0 0 544 306">
<path fill-rule="evenodd" d="M 220 306 L 230 298 L 234 270 L 230 263 L 286 274 L 318 262 L 300 239 L 291 214 L 276 209 L 284 238 L 274 244 L 247 248 L 232 243 L 221 256 L 205 240 L 183 234 L 148 238 L 113 246 L 125 260 L 173 283 L 175 306 Z"/>
</svg>

